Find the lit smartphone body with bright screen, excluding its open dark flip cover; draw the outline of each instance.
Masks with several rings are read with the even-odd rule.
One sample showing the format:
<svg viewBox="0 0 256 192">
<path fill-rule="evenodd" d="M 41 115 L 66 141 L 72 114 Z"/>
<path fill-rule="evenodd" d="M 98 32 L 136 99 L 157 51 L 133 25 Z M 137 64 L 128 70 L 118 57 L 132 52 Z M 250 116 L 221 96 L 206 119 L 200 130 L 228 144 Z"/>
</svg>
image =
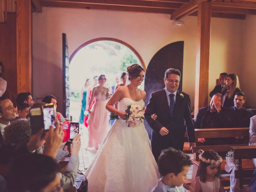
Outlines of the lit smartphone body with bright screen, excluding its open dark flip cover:
<svg viewBox="0 0 256 192">
<path fill-rule="evenodd" d="M 50 126 L 56 128 L 55 122 L 57 122 L 56 118 L 56 106 L 53 103 L 45 104 L 42 107 L 44 114 L 44 130 L 49 130 Z"/>
</svg>

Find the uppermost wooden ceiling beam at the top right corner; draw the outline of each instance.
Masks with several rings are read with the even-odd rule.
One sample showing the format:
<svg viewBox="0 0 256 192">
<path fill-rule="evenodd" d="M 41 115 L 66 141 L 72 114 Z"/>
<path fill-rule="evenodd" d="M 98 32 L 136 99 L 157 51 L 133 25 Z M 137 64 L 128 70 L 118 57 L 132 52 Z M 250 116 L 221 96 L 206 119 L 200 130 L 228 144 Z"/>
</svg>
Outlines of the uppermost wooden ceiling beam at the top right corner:
<svg viewBox="0 0 256 192">
<path fill-rule="evenodd" d="M 256 9 L 256 2 L 212 2 L 212 6 L 240 8 L 240 9 Z"/>
</svg>

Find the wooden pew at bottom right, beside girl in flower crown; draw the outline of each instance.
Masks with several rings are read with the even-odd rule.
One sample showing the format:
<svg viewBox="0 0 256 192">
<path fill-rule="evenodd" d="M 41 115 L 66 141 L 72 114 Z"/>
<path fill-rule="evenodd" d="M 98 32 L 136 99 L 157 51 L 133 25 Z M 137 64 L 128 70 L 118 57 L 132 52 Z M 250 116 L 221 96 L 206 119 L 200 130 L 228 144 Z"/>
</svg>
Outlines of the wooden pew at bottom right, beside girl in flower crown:
<svg viewBox="0 0 256 192">
<path fill-rule="evenodd" d="M 249 184 L 252 173 L 255 170 L 254 166 L 248 167 L 249 162 L 245 160 L 256 158 L 256 146 L 232 146 L 231 149 L 234 151 L 234 159 L 239 160 L 235 178 L 239 179 L 239 187 L 243 189 L 244 185 Z"/>
</svg>

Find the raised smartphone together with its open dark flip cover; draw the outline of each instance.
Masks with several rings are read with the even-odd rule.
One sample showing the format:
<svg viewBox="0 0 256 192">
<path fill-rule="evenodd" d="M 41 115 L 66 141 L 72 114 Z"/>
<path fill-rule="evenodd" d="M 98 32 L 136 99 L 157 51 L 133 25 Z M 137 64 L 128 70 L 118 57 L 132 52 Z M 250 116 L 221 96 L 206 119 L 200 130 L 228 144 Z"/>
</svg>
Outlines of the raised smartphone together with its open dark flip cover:
<svg viewBox="0 0 256 192">
<path fill-rule="evenodd" d="M 56 106 L 53 103 L 30 109 L 30 126 L 32 135 L 40 129 L 49 130 L 52 125 L 55 128 Z"/>
</svg>

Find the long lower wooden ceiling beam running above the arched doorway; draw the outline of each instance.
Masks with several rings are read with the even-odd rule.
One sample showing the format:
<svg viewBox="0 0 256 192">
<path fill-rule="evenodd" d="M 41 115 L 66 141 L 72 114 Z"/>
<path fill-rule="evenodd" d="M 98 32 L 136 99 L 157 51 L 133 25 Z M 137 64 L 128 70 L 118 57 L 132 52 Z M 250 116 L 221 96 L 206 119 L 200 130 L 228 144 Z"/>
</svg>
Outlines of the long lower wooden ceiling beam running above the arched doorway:
<svg viewBox="0 0 256 192">
<path fill-rule="evenodd" d="M 170 14 L 174 10 L 172 8 L 148 8 L 148 7 L 136 7 L 136 6 L 103 5 L 103 4 L 93 4 L 93 3 L 77 4 L 77 3 L 52 2 L 52 1 L 42 1 L 41 4 L 42 6 L 49 6 L 49 7 L 120 10 L 120 11 L 152 12 L 152 13 L 166 13 L 166 14 Z"/>
</svg>

